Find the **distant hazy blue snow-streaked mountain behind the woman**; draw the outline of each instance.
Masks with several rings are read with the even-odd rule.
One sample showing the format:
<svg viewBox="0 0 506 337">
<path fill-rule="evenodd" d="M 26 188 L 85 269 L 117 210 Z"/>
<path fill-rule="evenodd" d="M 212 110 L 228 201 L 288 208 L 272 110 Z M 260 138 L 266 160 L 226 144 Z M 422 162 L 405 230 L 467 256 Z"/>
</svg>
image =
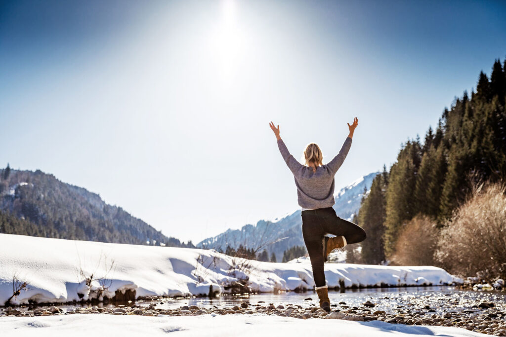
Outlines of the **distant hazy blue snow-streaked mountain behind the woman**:
<svg viewBox="0 0 506 337">
<path fill-rule="evenodd" d="M 360 177 L 334 194 L 335 204 L 332 207 L 338 216 L 351 220 L 360 208 L 364 189 L 368 191 L 371 188 L 372 179 L 378 173 Z M 274 252 L 276 260 L 281 261 L 286 249 L 304 245 L 301 226 L 299 208 L 275 219 L 260 220 L 256 225 L 246 224 L 241 229 L 228 229 L 214 237 L 203 239 L 197 247 L 216 250 L 221 248 L 225 251 L 228 245 L 238 248 L 242 244 L 245 248 L 260 248 L 259 251 L 265 248 L 269 256 Z"/>
</svg>

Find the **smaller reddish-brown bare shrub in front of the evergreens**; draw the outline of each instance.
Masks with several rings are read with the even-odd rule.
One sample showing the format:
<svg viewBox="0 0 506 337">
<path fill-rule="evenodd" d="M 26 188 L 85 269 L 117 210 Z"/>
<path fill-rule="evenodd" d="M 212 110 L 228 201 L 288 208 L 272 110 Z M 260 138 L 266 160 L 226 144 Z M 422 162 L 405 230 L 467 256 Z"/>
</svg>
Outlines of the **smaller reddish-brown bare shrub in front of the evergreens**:
<svg viewBox="0 0 506 337">
<path fill-rule="evenodd" d="M 393 265 L 432 266 L 436 250 L 439 229 L 436 223 L 426 215 L 417 215 L 409 221 L 399 234 Z"/>
</svg>

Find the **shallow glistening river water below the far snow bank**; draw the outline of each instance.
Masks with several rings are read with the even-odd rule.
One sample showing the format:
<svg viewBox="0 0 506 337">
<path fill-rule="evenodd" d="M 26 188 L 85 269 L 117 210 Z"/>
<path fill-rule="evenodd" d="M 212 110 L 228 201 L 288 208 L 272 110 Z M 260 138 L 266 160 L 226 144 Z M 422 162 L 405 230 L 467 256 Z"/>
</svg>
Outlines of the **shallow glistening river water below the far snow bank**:
<svg viewBox="0 0 506 337">
<path fill-rule="evenodd" d="M 482 302 L 493 303 L 496 309 L 502 312 L 506 311 L 506 293 L 499 291 L 473 291 L 459 290 L 454 286 L 417 286 L 417 287 L 397 287 L 397 288 L 365 288 L 356 290 L 347 290 L 344 293 L 329 291 L 328 296 L 331 304 L 362 310 L 361 304 L 370 301 L 374 304 L 371 310 L 384 310 L 387 313 L 408 311 L 425 311 L 442 314 L 445 312 L 463 312 L 467 310 L 469 314 L 478 312 L 478 305 Z M 209 298 L 160 298 L 152 301 L 136 301 L 136 305 L 149 306 L 155 305 L 158 309 L 176 309 L 184 305 L 196 305 L 200 308 L 224 308 L 239 305 L 247 301 L 252 305 L 269 304 L 278 305 L 300 305 L 308 307 L 318 306 L 318 296 L 315 292 L 294 293 L 280 292 L 279 294 L 252 294 L 242 296 L 224 295 L 216 299 Z M 126 305 L 132 305 L 129 303 Z M 64 311 L 76 307 L 90 307 L 92 305 L 61 305 Z M 99 307 L 114 307 L 114 305 L 97 305 Z M 122 305 L 116 305 L 122 306 Z M 28 309 L 22 308 L 22 309 Z"/>
</svg>

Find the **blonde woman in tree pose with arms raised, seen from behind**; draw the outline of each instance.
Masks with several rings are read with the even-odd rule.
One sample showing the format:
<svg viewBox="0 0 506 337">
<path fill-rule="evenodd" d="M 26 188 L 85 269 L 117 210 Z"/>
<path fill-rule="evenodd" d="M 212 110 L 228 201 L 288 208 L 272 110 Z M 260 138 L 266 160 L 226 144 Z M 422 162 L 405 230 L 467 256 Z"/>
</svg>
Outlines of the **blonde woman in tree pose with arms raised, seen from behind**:
<svg viewBox="0 0 506 337">
<path fill-rule="evenodd" d="M 353 132 L 358 125 L 355 117 L 353 124 L 348 124 L 350 134 L 343 147 L 327 164 L 322 164 L 323 156 L 315 143 L 310 143 L 304 151 L 305 165 L 299 163 L 288 152 L 277 128 L 271 122 L 272 131 L 276 135 L 278 148 L 288 168 L 293 173 L 297 186 L 299 205 L 302 207 L 302 235 L 308 250 L 313 268 L 315 290 L 320 299 L 320 308 L 330 311 L 328 286 L 325 282 L 323 263 L 328 254 L 334 249 L 341 249 L 347 244 L 356 244 L 365 239 L 365 231 L 335 214 L 332 205 L 334 201 L 334 175 L 343 164 L 351 147 Z M 326 234 L 336 235 L 333 237 Z"/>
</svg>

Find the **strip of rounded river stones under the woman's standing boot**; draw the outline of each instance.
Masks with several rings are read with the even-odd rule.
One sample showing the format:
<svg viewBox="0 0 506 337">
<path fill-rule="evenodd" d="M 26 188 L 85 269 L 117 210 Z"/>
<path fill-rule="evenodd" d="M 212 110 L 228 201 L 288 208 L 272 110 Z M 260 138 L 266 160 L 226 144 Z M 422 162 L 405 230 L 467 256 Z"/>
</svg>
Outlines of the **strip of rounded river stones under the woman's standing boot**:
<svg viewBox="0 0 506 337">
<path fill-rule="evenodd" d="M 488 298 L 493 298 L 493 294 Z M 506 305 L 503 302 L 486 302 L 466 299 L 456 294 L 434 293 L 425 296 L 389 294 L 382 301 L 365 301 L 360 304 L 339 302 L 332 304 L 327 313 L 317 306 L 317 297 L 311 296 L 301 304 L 265 303 L 264 301 L 243 301 L 238 305 L 220 304 L 209 306 L 183 305 L 177 308 L 163 308 L 168 299 L 153 297 L 140 304 L 121 306 L 3 308 L 1 316 L 52 316 L 72 314 L 108 314 L 143 316 L 196 316 L 212 315 L 278 315 L 299 319 L 345 319 L 352 321 L 382 320 L 388 323 L 408 325 L 443 325 L 461 327 L 475 332 L 506 336 Z M 474 301 L 474 302 L 473 302 Z M 389 306 L 394 303 L 395 306 Z"/>
</svg>

